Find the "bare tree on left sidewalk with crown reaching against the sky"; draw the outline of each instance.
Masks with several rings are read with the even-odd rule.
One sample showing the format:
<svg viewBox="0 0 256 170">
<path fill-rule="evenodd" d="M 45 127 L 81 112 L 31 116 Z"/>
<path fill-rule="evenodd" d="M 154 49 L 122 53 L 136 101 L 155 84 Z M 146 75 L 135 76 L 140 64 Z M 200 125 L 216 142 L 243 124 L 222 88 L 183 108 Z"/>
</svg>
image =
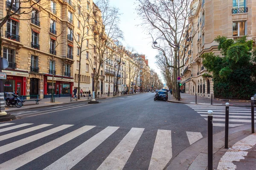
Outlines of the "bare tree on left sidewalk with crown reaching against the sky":
<svg viewBox="0 0 256 170">
<path fill-rule="evenodd" d="M 89 59 L 90 67 L 95 77 L 95 94 L 97 94 L 98 80 L 101 66 L 113 58 L 118 49 L 116 40 L 122 39 L 122 31 L 119 29 L 119 9 L 110 6 L 109 0 L 98 0 L 93 6 L 93 24 L 90 29 L 94 33 L 93 54 Z"/>
</svg>

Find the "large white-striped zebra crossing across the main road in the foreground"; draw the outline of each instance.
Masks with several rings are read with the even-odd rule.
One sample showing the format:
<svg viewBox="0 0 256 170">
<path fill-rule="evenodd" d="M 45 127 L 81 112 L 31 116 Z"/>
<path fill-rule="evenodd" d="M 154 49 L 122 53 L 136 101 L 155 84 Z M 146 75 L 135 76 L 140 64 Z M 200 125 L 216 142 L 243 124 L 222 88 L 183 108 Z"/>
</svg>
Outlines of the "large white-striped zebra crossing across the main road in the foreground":
<svg viewBox="0 0 256 170">
<path fill-rule="evenodd" d="M 104 144 L 106 139 L 111 138 L 111 136 L 119 130 L 119 127 L 114 126 L 101 128 L 103 128 L 103 130 L 97 131 L 94 136 L 84 140 L 73 150 L 68 150 L 67 153 L 61 155 L 60 158 L 47 159 L 48 162 L 45 164 L 44 170 L 72 169 L 80 161 L 83 161 L 88 154 L 99 147 L 99 145 Z M 44 154 L 53 152 L 53 150 L 60 148 L 67 142 L 76 142 L 75 138 L 87 134 L 90 131 L 93 132 L 95 129 L 96 126 L 93 125 L 76 127 L 75 125 L 35 125 L 33 123 L 23 123 L 20 125 L 16 125 L 15 123 L 0 124 L 0 158 L 10 157 L 8 160 L 0 160 L 0 170 L 23 169 L 24 165 L 35 161 L 35 159 L 40 159 Z M 10 133 L 8 133 L 8 131 L 10 131 Z M 34 133 L 29 136 L 31 132 Z M 106 156 L 99 167 L 97 167 L 97 170 L 122 170 L 136 145 L 139 142 L 143 142 L 140 139 L 144 132 L 144 128 L 132 127 L 111 153 Z M 53 134 L 55 134 L 54 139 L 52 139 Z M 186 132 L 186 134 L 186 140 L 189 144 L 193 144 L 203 138 L 200 132 Z M 18 138 L 19 136 L 24 136 L 24 138 Z M 45 143 L 42 142 L 44 141 L 43 138 L 45 139 L 45 137 L 48 136 L 51 136 L 51 140 Z M 16 138 L 14 137 L 17 137 L 17 140 L 15 140 Z M 6 139 L 10 140 L 10 142 L 7 142 Z M 148 160 L 149 164 L 146 169 L 162 170 L 172 159 L 172 131 L 158 129 L 156 136 L 154 136 L 154 141 L 151 159 L 150 161 Z M 36 142 L 40 143 L 40 145 L 35 148 L 32 147 L 31 150 L 26 150 L 28 146 L 33 146 Z M 24 146 L 26 146 L 25 149 Z M 9 155 L 13 153 L 15 154 L 14 156 Z"/>
</svg>

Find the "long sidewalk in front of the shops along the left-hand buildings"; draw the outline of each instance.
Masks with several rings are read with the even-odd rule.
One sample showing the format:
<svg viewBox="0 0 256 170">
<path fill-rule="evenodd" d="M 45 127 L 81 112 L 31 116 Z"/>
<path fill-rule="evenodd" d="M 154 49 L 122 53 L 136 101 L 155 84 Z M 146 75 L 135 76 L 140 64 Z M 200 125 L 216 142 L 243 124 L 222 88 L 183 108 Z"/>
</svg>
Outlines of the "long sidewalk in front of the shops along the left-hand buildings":
<svg viewBox="0 0 256 170">
<path fill-rule="evenodd" d="M 140 93 L 136 93 L 136 94 L 140 94 Z M 136 95 L 136 94 L 129 94 L 129 96 Z M 127 96 L 127 95 L 125 95 L 125 96 Z M 99 96 L 99 99 L 108 99 L 108 98 L 113 98 L 113 97 L 122 97 L 122 96 L 120 93 L 119 93 L 119 96 L 113 96 L 113 93 L 110 94 L 110 96 L 108 96 L 107 94 L 102 94 Z M 70 97 L 56 97 L 55 102 L 51 103 L 50 98 L 47 98 L 47 99 L 41 99 L 41 101 L 39 102 L 38 105 L 35 104 L 35 101 L 24 102 L 23 106 L 21 108 L 16 108 L 15 106 L 12 106 L 12 105 L 11 106 L 5 105 L 5 111 L 7 113 L 10 113 L 10 112 L 14 112 L 14 111 L 25 111 L 25 110 L 29 110 L 29 109 L 45 108 L 45 107 L 49 107 L 49 106 L 68 105 L 68 104 L 76 103 L 76 102 L 87 102 L 90 100 L 91 100 L 91 98 L 88 99 L 88 97 L 80 97 L 80 99 L 78 99 L 77 101 L 75 99 L 73 99 L 70 102 Z M 96 99 L 96 100 L 98 100 L 98 99 Z"/>
</svg>

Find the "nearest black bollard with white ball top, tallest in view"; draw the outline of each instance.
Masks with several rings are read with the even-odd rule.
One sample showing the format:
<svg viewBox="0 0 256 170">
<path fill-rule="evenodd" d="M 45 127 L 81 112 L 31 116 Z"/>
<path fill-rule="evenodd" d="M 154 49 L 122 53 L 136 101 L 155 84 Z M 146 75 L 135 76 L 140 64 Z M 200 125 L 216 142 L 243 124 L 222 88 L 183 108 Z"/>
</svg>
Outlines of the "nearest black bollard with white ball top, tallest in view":
<svg viewBox="0 0 256 170">
<path fill-rule="evenodd" d="M 208 111 L 208 170 L 212 170 L 212 111 Z"/>
</svg>

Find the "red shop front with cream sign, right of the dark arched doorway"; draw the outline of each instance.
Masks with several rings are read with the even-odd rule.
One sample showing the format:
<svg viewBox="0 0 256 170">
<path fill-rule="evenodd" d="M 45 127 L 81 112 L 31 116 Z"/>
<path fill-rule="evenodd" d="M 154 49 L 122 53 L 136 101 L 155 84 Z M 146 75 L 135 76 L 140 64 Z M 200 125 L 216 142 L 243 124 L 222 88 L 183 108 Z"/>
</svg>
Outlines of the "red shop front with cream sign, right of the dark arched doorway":
<svg viewBox="0 0 256 170">
<path fill-rule="evenodd" d="M 52 93 L 55 97 L 67 97 L 72 94 L 74 79 L 63 77 L 44 77 L 44 98 L 50 98 Z"/>
</svg>

